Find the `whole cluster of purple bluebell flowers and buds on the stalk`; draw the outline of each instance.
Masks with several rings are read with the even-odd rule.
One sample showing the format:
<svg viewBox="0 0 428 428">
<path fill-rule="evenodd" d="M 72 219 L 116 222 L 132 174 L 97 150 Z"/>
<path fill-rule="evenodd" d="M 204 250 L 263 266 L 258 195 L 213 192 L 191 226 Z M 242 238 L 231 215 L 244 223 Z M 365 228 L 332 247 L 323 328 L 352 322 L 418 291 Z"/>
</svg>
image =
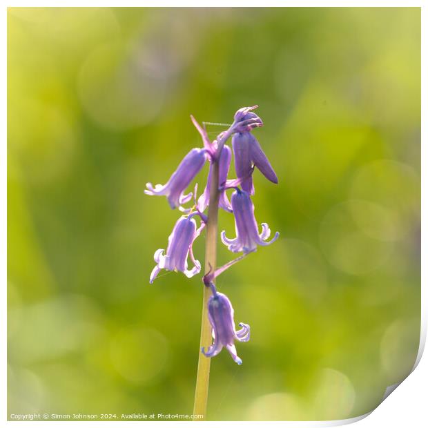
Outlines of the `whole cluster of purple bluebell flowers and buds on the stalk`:
<svg viewBox="0 0 428 428">
<path fill-rule="evenodd" d="M 164 249 L 155 252 L 156 266 L 150 274 L 150 283 L 153 283 L 162 269 L 180 271 L 191 278 L 201 271 L 201 264 L 193 255 L 193 242 L 208 222 L 204 211 L 208 208 L 211 193 L 213 193 L 213 168 L 217 163 L 218 206 L 224 211 L 233 213 L 236 229 L 235 239 L 228 239 L 223 231 L 222 242 L 232 253 L 242 253 L 242 255 L 204 277 L 204 284 L 210 286 L 212 291 L 208 301 L 208 318 L 213 329 L 213 344 L 206 351 L 202 349 L 202 353 L 207 357 L 213 357 L 223 347 L 226 347 L 237 364 L 241 364 L 242 360 L 237 356 L 234 341 L 246 342 L 249 340 L 250 327 L 247 324 L 240 324 L 241 329 L 235 330 L 231 302 L 226 295 L 217 292 L 213 279 L 235 262 L 242 260 L 245 255 L 256 251 L 257 246 L 269 245 L 277 240 L 279 235 L 277 232 L 270 241 L 267 241 L 271 231 L 266 223 L 262 223 L 262 231 L 259 231 L 254 215 L 254 204 L 251 201 L 251 195 L 254 193 L 254 168 L 257 168 L 269 181 L 278 183 L 275 171 L 252 134 L 255 128 L 263 126 L 262 119 L 252 111 L 256 107 L 243 107 L 237 110 L 233 124 L 212 142 L 206 129 L 191 116 L 193 124 L 202 137 L 203 147 L 190 150 L 166 184 L 153 186 L 151 183 L 147 183 L 144 191 L 147 195 L 166 196 L 171 208 L 179 208 L 184 213 L 173 227 L 168 238 L 166 252 Z M 232 149 L 225 144 L 229 137 L 232 137 Z M 232 153 L 236 178 L 228 179 Z M 186 189 L 207 161 L 210 166 L 204 191 L 197 197 L 196 185 L 193 193 L 186 193 Z M 235 189 L 230 201 L 226 193 L 229 189 Z M 191 201 L 192 195 L 193 206 L 184 207 L 184 204 Z M 199 220 L 199 225 L 197 220 Z M 188 269 L 189 255 L 193 264 L 191 269 Z"/>
</svg>

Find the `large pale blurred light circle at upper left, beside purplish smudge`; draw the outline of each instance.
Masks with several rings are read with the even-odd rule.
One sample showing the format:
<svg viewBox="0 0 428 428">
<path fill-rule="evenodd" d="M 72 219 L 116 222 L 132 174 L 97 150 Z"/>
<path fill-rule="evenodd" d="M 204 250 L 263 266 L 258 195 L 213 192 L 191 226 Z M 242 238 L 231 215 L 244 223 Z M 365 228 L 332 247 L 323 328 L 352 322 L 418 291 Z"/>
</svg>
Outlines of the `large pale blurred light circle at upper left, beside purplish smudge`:
<svg viewBox="0 0 428 428">
<path fill-rule="evenodd" d="M 128 130 L 155 119 L 166 94 L 164 79 L 148 72 L 139 57 L 117 41 L 96 48 L 81 67 L 81 103 L 110 130 Z"/>
</svg>

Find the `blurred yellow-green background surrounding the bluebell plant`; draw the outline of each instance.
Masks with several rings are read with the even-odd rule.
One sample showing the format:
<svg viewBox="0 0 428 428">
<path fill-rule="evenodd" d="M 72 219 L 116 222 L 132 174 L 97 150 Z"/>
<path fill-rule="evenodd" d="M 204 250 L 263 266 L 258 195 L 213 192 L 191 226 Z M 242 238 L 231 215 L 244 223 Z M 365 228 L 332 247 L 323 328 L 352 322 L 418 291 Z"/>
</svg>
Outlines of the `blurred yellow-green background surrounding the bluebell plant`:
<svg viewBox="0 0 428 428">
<path fill-rule="evenodd" d="M 144 185 L 201 146 L 191 113 L 253 104 L 280 179 L 255 172 L 255 213 L 281 235 L 218 280 L 251 341 L 213 359 L 208 419 L 359 416 L 409 373 L 419 8 L 11 8 L 9 414 L 191 413 L 201 277 L 148 285 L 179 213 Z"/>
</svg>

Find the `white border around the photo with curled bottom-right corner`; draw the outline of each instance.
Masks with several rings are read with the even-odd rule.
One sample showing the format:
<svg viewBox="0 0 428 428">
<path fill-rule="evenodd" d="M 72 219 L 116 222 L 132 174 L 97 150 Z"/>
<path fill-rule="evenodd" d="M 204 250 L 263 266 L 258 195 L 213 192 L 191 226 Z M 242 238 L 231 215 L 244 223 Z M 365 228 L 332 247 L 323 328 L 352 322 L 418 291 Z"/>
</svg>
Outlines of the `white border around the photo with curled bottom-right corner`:
<svg viewBox="0 0 428 428">
<path fill-rule="evenodd" d="M 41 3 L 41 4 L 40 4 Z M 120 7 L 260 7 L 260 3 L 254 0 L 246 0 L 246 1 L 225 1 L 225 0 L 217 0 L 215 2 L 205 2 L 206 4 L 201 5 L 196 1 L 157 1 L 154 3 L 153 1 L 123 1 L 119 3 L 118 1 L 62 1 L 61 4 L 58 4 L 58 1 L 42 1 L 37 4 L 36 1 L 9 1 L 4 5 L 3 9 L 3 28 L 1 34 L 1 50 L 2 57 L 6 59 L 7 57 L 7 10 L 6 7 L 36 7 L 36 6 L 50 6 L 50 7 L 63 7 L 63 6 L 73 6 L 73 7 L 109 7 L 109 6 L 120 6 Z M 426 25 L 428 23 L 428 6 L 425 6 L 425 1 L 348 1 L 344 3 L 343 1 L 266 1 L 264 2 L 263 7 L 420 7 L 421 8 L 421 23 L 422 23 L 422 33 L 421 33 L 421 89 L 422 89 L 422 106 L 421 106 L 421 159 L 422 159 L 422 195 L 424 194 L 424 190 L 427 188 L 427 126 L 423 117 L 427 118 L 428 110 L 427 110 L 427 81 L 426 77 L 428 76 L 428 68 L 427 68 L 427 29 Z M 423 78 L 425 76 L 425 79 Z M 0 260 L 1 260 L 1 275 L 3 278 L 3 289 L 2 289 L 2 299 L 1 299 L 1 341 L 0 341 L 0 358 L 1 358 L 1 382 L 2 387 L 0 390 L 0 420 L 4 422 L 4 424 L 9 427 L 12 424 L 17 423 L 19 427 L 33 427 L 35 425 L 41 427 L 43 425 L 43 421 L 8 421 L 7 420 L 7 356 L 6 356 L 6 342 L 7 342 L 7 78 L 6 78 L 6 61 L 3 64 L 3 68 L 1 69 L 1 77 L 3 81 L 3 86 L 1 87 L 1 95 L 3 98 L 3 146 L 0 155 L 0 174 L 1 174 L 1 200 L 4 202 L 2 204 L 2 209 L 0 211 L 0 231 L 1 236 L 3 236 L 3 240 L 0 244 Z M 422 253 L 421 259 L 428 260 L 427 253 L 427 228 L 424 220 L 426 220 L 427 214 L 427 204 L 426 198 L 422 197 Z M 227 422 L 227 421 L 192 421 L 191 425 L 193 427 L 218 427 L 218 425 L 222 425 L 224 427 L 255 427 L 260 426 L 261 424 L 269 425 L 271 427 L 333 427 L 333 426 L 342 426 L 348 425 L 353 422 L 359 422 L 360 427 L 379 427 L 383 425 L 395 427 L 402 426 L 403 424 L 409 425 L 411 427 L 419 427 L 426 426 L 428 423 L 428 415 L 425 412 L 426 407 L 426 381 L 427 381 L 427 373 L 428 373 L 428 362 L 427 358 L 422 358 L 422 353 L 425 348 L 425 340 L 427 335 L 427 290 L 426 290 L 426 279 L 427 279 L 427 269 L 425 264 L 422 262 L 422 281 L 421 281 L 421 335 L 420 335 L 420 347 L 418 351 L 418 358 L 416 360 L 414 369 L 416 372 L 409 374 L 409 376 L 403 381 L 398 383 L 397 385 L 392 385 L 385 391 L 385 398 L 388 397 L 387 400 L 383 401 L 376 409 L 373 411 L 358 416 L 357 418 L 345 419 L 345 420 L 333 420 L 333 421 L 303 421 L 303 422 L 260 422 L 260 421 L 251 421 L 251 422 Z M 420 364 L 420 362 L 422 362 Z M 395 389 L 400 385 L 397 391 Z M 389 394 L 392 393 L 391 397 Z M 410 413 L 409 413 L 410 412 Z M 370 416 L 370 418 L 366 418 L 366 416 Z M 77 427 L 81 426 L 82 423 L 90 426 L 101 425 L 103 427 L 118 427 L 119 425 L 129 425 L 129 426 L 141 426 L 141 427 L 184 427 L 188 425 L 189 421 L 123 421 L 123 420 L 115 420 L 115 421 L 47 421 L 46 425 L 52 425 L 55 423 L 57 425 L 66 425 L 67 427 Z"/>
</svg>

